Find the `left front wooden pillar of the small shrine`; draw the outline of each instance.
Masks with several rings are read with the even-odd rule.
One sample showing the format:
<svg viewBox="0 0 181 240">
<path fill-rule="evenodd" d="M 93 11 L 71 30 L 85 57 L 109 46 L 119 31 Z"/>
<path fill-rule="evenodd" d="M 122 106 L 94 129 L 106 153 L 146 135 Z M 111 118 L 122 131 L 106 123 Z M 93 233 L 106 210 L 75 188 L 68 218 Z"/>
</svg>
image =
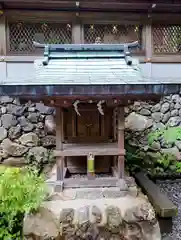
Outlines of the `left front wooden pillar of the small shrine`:
<svg viewBox="0 0 181 240">
<path fill-rule="evenodd" d="M 63 150 L 63 111 L 59 107 L 56 108 L 56 150 Z M 64 157 L 57 157 L 57 181 L 63 186 L 64 173 Z M 62 183 L 61 183 L 62 182 Z"/>
</svg>

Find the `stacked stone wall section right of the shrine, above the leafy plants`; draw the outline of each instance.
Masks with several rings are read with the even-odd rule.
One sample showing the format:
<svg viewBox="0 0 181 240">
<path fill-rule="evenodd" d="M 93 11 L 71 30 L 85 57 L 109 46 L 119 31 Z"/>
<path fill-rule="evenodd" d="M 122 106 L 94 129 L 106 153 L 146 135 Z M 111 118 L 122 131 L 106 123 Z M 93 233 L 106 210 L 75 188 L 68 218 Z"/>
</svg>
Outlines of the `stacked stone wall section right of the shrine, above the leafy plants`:
<svg viewBox="0 0 181 240">
<path fill-rule="evenodd" d="M 136 101 L 125 108 L 125 114 L 126 139 L 129 144 L 148 149 L 150 132 L 165 127 L 181 126 L 181 96 L 177 94 L 166 96 L 159 103 Z M 167 143 L 159 139 L 154 141 L 151 148 L 178 155 L 181 141 Z"/>
</svg>

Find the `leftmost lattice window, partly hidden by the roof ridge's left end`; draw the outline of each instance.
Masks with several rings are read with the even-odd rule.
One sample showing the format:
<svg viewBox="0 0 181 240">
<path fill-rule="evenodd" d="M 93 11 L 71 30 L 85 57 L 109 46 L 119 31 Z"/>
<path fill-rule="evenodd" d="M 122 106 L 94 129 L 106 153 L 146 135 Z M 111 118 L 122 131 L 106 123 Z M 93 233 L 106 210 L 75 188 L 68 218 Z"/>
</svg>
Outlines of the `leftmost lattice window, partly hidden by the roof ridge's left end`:
<svg viewBox="0 0 181 240">
<path fill-rule="evenodd" d="M 71 43 L 72 28 L 64 23 L 10 22 L 7 36 L 9 53 L 28 54 L 35 52 L 33 41 L 40 43 Z"/>
</svg>

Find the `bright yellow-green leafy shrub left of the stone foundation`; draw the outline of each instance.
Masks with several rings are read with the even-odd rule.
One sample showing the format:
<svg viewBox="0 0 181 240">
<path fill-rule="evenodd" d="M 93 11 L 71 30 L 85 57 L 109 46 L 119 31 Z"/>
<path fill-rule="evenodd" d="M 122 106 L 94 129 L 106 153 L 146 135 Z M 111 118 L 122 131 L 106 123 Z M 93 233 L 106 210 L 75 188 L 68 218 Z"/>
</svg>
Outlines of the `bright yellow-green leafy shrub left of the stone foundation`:
<svg viewBox="0 0 181 240">
<path fill-rule="evenodd" d="M 46 195 L 43 176 L 27 168 L 0 167 L 0 239 L 20 239 L 25 213 L 36 210 Z"/>
</svg>

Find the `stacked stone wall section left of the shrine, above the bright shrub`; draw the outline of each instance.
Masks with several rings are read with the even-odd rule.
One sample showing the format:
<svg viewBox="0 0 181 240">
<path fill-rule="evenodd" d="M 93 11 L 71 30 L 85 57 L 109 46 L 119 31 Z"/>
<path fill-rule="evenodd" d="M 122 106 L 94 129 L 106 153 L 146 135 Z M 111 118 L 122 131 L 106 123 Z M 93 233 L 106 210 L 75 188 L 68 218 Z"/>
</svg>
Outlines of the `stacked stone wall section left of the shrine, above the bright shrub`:
<svg viewBox="0 0 181 240">
<path fill-rule="evenodd" d="M 8 96 L 0 98 L 0 162 L 5 165 L 25 164 L 25 155 L 36 158 L 55 147 L 55 134 L 46 129 L 54 109 L 42 103 L 20 104 Z"/>
</svg>

